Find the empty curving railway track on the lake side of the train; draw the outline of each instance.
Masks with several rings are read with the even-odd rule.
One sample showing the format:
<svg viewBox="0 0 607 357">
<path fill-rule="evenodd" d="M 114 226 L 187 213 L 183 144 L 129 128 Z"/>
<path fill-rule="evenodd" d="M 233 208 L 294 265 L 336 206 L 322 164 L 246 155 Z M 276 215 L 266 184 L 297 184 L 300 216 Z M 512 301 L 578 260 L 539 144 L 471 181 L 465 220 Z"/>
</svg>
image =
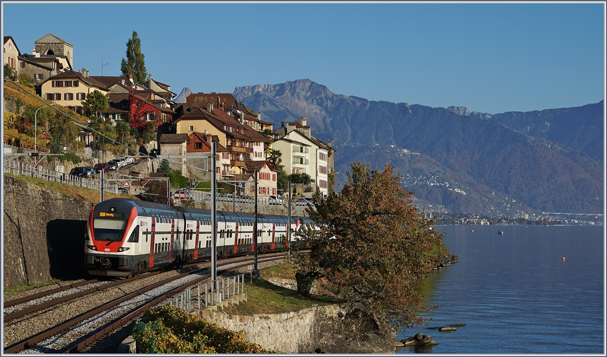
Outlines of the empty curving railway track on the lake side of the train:
<svg viewBox="0 0 607 357">
<path fill-rule="evenodd" d="M 270 262 L 283 259 L 284 254 L 264 255 L 259 262 Z M 253 258 L 246 257 L 232 262 L 225 262 L 218 267 L 225 267 L 220 272 L 246 267 Z M 16 342 L 4 349 L 4 353 L 74 353 L 86 349 L 98 339 L 108 335 L 120 326 L 141 315 L 144 310 L 157 305 L 169 294 L 177 293 L 192 284 L 209 278 L 209 267 L 197 268 L 187 273 L 169 277 L 160 282 L 124 294 L 119 298 L 105 302 L 78 316 L 47 328 L 40 333 Z M 125 279 L 126 280 L 126 279 Z M 107 284 L 106 284 L 107 285 Z M 6 326 L 5 326 L 6 330 Z"/>
</svg>

